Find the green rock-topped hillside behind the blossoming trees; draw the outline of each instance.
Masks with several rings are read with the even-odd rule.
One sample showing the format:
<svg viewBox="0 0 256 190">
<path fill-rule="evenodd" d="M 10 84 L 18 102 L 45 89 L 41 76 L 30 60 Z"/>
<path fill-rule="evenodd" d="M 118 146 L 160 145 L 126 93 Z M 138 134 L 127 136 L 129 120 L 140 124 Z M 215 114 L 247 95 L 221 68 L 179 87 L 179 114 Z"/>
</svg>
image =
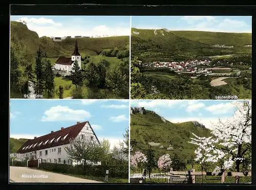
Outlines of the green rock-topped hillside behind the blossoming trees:
<svg viewBox="0 0 256 190">
<path fill-rule="evenodd" d="M 192 133 L 209 136 L 210 130 L 197 122 L 175 124 L 153 111 L 139 113 L 131 110 L 131 145 L 134 150 L 143 150 L 150 144 L 157 154 L 177 153 L 186 160 L 196 149 L 195 145 L 188 143 L 190 137 L 194 137 Z"/>
</svg>

